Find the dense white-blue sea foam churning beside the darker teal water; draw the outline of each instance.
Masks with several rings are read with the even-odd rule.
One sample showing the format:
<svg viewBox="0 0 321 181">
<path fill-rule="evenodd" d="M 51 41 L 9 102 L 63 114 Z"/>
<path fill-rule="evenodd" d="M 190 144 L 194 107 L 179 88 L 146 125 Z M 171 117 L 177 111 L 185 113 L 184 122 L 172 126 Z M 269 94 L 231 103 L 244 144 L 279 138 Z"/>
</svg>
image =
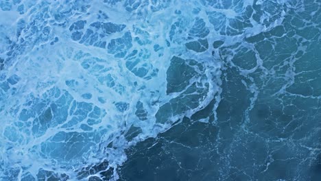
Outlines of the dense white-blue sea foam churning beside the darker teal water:
<svg viewBox="0 0 321 181">
<path fill-rule="evenodd" d="M 266 64 L 263 50 L 278 49 L 276 38 L 287 31 L 283 23 L 293 10 L 304 9 L 302 4 L 1 1 L 1 180 L 108 180 L 99 173 L 110 169 L 109 180 L 119 180 L 118 168 L 130 159 L 130 147 L 209 106 L 211 114 L 194 121 L 219 126 L 227 69 L 244 77 L 240 85 L 248 90 L 249 102 L 239 116 L 239 130 L 251 134 L 250 112 L 260 93 L 270 93 L 269 87 L 273 96 L 290 93 L 296 55 L 308 50 L 302 44 L 280 52 L 289 55 L 283 58 L 289 68 L 275 87 L 267 86 L 280 75 Z M 314 14 L 320 17 L 319 9 Z M 320 24 L 311 26 L 320 33 Z M 271 45 L 258 47 L 269 37 Z M 258 71 L 266 82 L 251 77 Z M 102 162 L 103 170 L 83 174 Z"/>
</svg>

